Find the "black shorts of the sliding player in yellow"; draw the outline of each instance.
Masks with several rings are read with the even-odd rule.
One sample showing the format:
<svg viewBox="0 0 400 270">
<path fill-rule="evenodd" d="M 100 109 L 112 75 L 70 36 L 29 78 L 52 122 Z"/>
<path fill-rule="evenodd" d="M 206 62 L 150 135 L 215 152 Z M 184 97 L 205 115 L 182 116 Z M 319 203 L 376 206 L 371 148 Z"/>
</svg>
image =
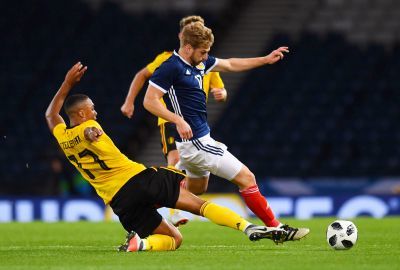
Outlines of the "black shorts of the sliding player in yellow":
<svg viewBox="0 0 400 270">
<path fill-rule="evenodd" d="M 147 237 L 161 223 L 157 208 L 175 207 L 184 178 L 184 174 L 170 168 L 147 168 L 117 192 L 110 206 L 126 231 Z"/>
</svg>

